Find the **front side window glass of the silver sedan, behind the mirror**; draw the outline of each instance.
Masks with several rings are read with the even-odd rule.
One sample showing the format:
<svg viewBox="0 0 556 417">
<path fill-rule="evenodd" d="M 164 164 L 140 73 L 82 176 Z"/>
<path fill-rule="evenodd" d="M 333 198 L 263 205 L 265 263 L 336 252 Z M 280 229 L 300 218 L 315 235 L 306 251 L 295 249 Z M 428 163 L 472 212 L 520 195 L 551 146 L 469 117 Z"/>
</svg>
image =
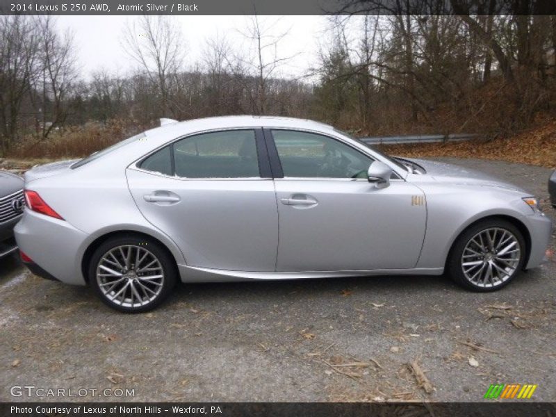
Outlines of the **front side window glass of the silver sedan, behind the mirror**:
<svg viewBox="0 0 556 417">
<path fill-rule="evenodd" d="M 284 177 L 366 178 L 373 158 L 316 133 L 272 130 Z"/>
</svg>

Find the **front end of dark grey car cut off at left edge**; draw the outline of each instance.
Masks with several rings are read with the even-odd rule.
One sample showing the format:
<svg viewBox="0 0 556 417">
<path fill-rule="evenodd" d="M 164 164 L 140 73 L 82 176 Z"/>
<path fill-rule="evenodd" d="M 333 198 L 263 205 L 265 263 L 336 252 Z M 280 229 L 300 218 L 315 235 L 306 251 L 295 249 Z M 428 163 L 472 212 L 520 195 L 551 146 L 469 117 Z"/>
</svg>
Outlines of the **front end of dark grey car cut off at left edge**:
<svg viewBox="0 0 556 417">
<path fill-rule="evenodd" d="M 13 228 L 23 215 L 23 186 L 19 175 L 0 171 L 0 259 L 17 250 Z"/>
</svg>

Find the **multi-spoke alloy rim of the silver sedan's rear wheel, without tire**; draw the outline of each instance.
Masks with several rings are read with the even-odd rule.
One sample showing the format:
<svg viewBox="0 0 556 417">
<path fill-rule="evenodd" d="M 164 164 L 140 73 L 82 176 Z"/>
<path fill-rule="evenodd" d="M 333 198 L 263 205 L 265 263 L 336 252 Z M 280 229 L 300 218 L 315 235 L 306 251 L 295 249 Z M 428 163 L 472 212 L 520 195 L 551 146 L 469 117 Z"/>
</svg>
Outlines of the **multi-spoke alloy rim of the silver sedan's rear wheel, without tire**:
<svg viewBox="0 0 556 417">
<path fill-rule="evenodd" d="M 128 308 L 156 300 L 165 280 L 161 261 L 140 245 L 119 245 L 108 250 L 97 263 L 96 277 L 106 299 Z"/>
</svg>

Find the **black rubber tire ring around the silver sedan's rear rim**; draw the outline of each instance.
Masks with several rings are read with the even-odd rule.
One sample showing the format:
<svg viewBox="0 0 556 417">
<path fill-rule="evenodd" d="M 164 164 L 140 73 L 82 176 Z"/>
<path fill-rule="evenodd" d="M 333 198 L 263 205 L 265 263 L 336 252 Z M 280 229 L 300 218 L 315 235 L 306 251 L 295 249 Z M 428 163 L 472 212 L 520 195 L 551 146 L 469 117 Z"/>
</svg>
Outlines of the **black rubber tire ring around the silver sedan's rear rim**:
<svg viewBox="0 0 556 417">
<path fill-rule="evenodd" d="M 156 297 L 154 300 L 152 300 L 152 302 L 149 302 L 149 304 L 145 306 L 120 306 L 118 304 L 115 304 L 114 302 L 111 302 L 111 300 L 108 300 L 106 295 L 104 295 L 104 293 L 102 293 L 101 289 L 99 288 L 99 284 L 97 282 L 97 265 L 101 257 L 104 256 L 106 252 L 120 245 L 141 245 L 142 247 L 148 249 L 149 252 L 152 252 L 152 254 L 154 254 L 154 256 L 156 256 L 161 262 L 162 268 L 164 270 L 163 288 L 161 290 L 161 293 L 158 294 L 158 297 Z M 167 250 L 161 247 L 161 245 L 159 243 L 156 243 L 154 240 L 142 238 L 139 236 L 117 236 L 108 238 L 108 240 L 101 243 L 101 245 L 97 247 L 95 252 L 93 252 L 88 266 L 89 284 L 93 288 L 95 293 L 97 293 L 104 304 L 117 311 L 122 311 L 123 313 L 145 313 L 146 311 L 156 309 L 156 307 L 158 307 L 170 294 L 172 288 L 174 288 L 177 282 L 177 275 L 178 274 L 174 259 L 172 259 L 172 256 L 168 254 Z"/>
</svg>

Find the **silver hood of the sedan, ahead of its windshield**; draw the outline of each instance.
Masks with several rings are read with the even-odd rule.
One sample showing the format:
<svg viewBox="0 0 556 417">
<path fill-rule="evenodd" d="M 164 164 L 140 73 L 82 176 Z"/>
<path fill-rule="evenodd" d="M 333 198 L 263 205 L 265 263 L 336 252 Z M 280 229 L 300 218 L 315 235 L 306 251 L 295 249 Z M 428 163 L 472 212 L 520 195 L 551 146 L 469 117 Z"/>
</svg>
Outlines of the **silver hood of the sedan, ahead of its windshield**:
<svg viewBox="0 0 556 417">
<path fill-rule="evenodd" d="M 496 177 L 492 177 L 484 172 L 470 170 L 468 168 L 453 165 L 451 163 L 442 163 L 436 161 L 428 161 L 425 159 L 409 159 L 407 161 L 416 163 L 417 165 L 425 168 L 427 177 L 432 177 L 434 181 L 443 183 L 452 183 L 461 186 L 483 186 L 502 188 L 505 190 L 517 191 L 519 193 L 528 194 L 523 188 L 518 187 L 512 183 L 502 181 Z"/>
</svg>

